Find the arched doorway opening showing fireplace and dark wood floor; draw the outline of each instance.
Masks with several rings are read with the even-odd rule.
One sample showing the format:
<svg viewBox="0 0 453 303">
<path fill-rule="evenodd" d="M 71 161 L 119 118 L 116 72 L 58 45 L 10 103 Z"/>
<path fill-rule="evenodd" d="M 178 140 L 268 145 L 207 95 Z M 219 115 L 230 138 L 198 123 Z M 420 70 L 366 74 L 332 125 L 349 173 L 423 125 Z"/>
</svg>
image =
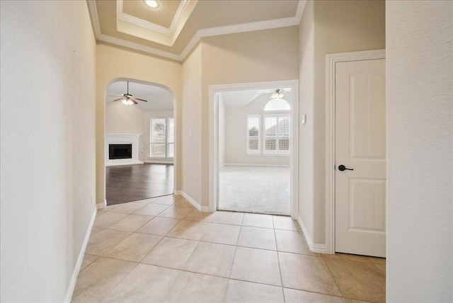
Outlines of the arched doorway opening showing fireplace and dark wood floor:
<svg viewBox="0 0 453 303">
<path fill-rule="evenodd" d="M 174 96 L 168 88 L 133 79 L 110 83 L 105 98 L 107 205 L 173 194 L 175 130 Z M 127 153 L 111 153 L 123 146 Z"/>
</svg>

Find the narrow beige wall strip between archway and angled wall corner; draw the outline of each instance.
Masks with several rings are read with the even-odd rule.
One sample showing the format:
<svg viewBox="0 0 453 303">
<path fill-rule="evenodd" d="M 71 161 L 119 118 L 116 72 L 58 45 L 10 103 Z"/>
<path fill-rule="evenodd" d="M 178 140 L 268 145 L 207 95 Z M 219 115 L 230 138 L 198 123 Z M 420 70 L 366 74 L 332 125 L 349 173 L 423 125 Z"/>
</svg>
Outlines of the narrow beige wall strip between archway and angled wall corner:
<svg viewBox="0 0 453 303">
<path fill-rule="evenodd" d="M 190 200 L 201 205 L 201 165 L 202 165 L 202 45 L 183 62 L 183 104 L 182 142 L 183 176 L 182 190 Z"/>
</svg>

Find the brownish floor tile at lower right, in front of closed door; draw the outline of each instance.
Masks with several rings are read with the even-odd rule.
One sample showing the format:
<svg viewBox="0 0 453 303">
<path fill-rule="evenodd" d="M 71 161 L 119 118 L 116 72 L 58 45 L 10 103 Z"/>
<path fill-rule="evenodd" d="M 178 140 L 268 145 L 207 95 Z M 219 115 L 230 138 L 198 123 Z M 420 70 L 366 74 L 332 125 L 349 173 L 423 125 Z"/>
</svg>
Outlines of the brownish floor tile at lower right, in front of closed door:
<svg viewBox="0 0 453 303">
<path fill-rule="evenodd" d="M 385 274 L 366 262 L 324 258 L 345 297 L 370 302 L 385 299 Z"/>
</svg>

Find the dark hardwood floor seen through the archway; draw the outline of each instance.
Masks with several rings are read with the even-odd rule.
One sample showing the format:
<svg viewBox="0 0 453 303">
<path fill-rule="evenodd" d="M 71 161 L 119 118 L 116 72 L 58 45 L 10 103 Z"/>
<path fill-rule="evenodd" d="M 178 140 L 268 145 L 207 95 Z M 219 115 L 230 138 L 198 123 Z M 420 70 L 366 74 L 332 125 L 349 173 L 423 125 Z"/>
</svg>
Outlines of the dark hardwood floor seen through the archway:
<svg viewBox="0 0 453 303">
<path fill-rule="evenodd" d="M 173 164 L 105 167 L 107 205 L 171 195 Z"/>
</svg>

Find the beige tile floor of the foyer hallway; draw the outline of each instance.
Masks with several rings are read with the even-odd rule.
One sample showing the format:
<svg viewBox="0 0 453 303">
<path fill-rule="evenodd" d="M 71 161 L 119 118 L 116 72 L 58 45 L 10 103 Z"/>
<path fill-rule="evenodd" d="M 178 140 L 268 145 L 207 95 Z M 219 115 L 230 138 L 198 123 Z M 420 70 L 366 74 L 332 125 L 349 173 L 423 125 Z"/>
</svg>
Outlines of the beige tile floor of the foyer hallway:
<svg viewBox="0 0 453 303">
<path fill-rule="evenodd" d="M 179 195 L 98 211 L 72 302 L 384 302 L 385 259 L 311 253 L 290 217 Z"/>
</svg>

